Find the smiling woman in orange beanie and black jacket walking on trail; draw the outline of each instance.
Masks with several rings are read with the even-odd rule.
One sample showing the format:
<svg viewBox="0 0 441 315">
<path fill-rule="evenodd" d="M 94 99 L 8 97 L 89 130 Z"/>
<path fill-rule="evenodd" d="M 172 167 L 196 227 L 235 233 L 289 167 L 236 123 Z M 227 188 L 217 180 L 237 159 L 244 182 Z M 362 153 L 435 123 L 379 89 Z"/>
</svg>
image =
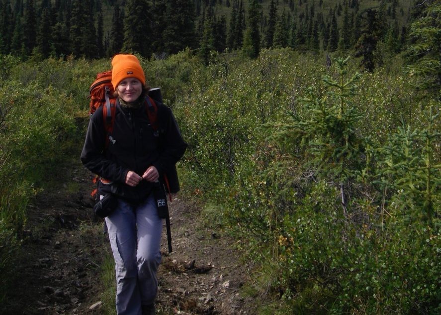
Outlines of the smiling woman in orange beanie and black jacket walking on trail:
<svg viewBox="0 0 441 315">
<path fill-rule="evenodd" d="M 159 102 L 159 129 L 152 127 L 145 105 L 149 88 L 134 55 L 114 56 L 112 85 L 117 95 L 113 131 L 106 133 L 99 107 L 90 118 L 81 160 L 102 178 L 98 187 L 117 197 L 116 210 L 105 217 L 115 259 L 117 314 L 152 315 L 163 226 L 153 186 L 164 174 L 176 176 L 175 164 L 187 145 L 172 111 Z"/>
</svg>

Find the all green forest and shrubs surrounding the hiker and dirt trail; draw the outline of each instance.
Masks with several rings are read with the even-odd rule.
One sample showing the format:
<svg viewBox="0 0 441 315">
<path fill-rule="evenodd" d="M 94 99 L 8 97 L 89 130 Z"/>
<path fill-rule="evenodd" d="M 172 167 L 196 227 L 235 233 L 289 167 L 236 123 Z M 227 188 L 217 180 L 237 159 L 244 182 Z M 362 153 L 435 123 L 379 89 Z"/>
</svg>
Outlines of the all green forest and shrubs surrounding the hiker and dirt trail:
<svg viewBox="0 0 441 315">
<path fill-rule="evenodd" d="M 0 0 L 0 305 L 117 53 L 173 109 L 179 194 L 236 240 L 257 315 L 441 313 L 441 0 Z"/>
</svg>

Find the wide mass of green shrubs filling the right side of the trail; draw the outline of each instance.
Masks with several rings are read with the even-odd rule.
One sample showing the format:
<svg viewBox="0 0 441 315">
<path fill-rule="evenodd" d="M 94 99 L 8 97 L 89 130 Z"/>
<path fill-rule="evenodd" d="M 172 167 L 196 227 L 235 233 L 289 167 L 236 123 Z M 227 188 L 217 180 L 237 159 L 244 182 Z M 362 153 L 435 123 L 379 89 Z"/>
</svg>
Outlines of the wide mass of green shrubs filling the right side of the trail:
<svg viewBox="0 0 441 315">
<path fill-rule="evenodd" d="M 196 70 L 175 107 L 183 182 L 223 205 L 280 314 L 437 314 L 439 118 L 400 74 L 335 63 L 270 50 Z"/>
</svg>

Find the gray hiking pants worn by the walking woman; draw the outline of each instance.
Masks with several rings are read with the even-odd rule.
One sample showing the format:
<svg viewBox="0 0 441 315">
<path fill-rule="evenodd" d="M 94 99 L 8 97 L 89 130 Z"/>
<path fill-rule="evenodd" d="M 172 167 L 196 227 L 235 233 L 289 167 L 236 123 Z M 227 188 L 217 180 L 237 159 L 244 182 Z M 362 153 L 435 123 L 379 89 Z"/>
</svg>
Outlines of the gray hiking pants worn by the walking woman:
<svg viewBox="0 0 441 315">
<path fill-rule="evenodd" d="M 161 263 L 163 220 L 153 194 L 137 207 L 118 200 L 117 209 L 105 221 L 115 259 L 116 312 L 141 315 L 141 305 L 155 302 Z"/>
</svg>

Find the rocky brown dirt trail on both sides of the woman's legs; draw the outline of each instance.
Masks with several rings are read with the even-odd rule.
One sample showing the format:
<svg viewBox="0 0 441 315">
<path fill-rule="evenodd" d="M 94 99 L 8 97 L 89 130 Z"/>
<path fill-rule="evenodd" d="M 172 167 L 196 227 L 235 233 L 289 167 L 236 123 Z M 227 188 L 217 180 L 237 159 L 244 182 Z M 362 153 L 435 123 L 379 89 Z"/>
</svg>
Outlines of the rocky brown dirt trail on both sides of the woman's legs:
<svg viewBox="0 0 441 315">
<path fill-rule="evenodd" d="M 100 272 L 110 246 L 92 215 L 91 174 L 78 163 L 61 170 L 67 180 L 36 196 L 28 207 L 23 255 L 2 315 L 103 314 Z M 159 269 L 158 315 L 254 314 L 239 294 L 247 267 L 232 240 L 205 228 L 199 210 L 178 197 L 170 205 L 173 249 Z"/>
</svg>

